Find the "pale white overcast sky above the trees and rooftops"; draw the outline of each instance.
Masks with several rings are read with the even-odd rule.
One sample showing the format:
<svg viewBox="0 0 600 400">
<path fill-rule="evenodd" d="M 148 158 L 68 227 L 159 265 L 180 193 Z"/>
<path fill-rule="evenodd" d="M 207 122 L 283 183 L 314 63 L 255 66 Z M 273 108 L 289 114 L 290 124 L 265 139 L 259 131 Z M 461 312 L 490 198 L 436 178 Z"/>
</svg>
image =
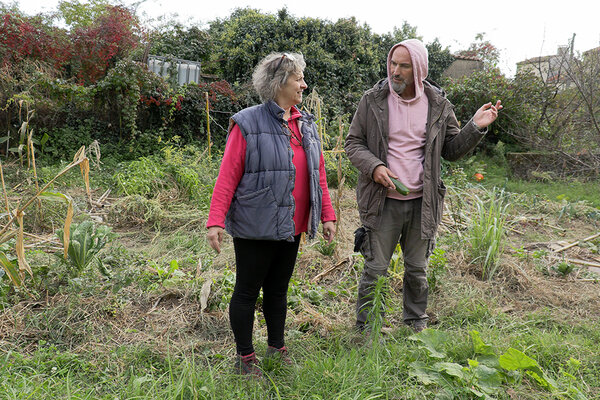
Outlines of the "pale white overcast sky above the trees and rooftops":
<svg viewBox="0 0 600 400">
<path fill-rule="evenodd" d="M 36 14 L 55 10 L 58 2 L 17 0 L 16 3 L 21 11 Z M 391 32 L 406 21 L 417 28 L 417 34 L 425 43 L 438 38 L 442 46 L 449 47 L 453 53 L 468 48 L 477 34 L 484 33 L 484 38 L 500 50 L 499 67 L 507 76 L 514 75 L 518 61 L 556 54 L 557 47 L 567 45 L 573 34 L 575 51 L 600 46 L 598 9 L 592 8 L 594 2 L 589 0 L 304 0 L 288 3 L 269 0 L 123 0 L 123 3 L 137 7 L 137 14 L 149 25 L 167 17 L 188 25 L 206 26 L 216 18 L 228 17 L 236 8 L 248 6 L 265 13 L 276 13 L 286 7 L 294 17 L 332 22 L 353 16 L 379 34 Z"/>
</svg>

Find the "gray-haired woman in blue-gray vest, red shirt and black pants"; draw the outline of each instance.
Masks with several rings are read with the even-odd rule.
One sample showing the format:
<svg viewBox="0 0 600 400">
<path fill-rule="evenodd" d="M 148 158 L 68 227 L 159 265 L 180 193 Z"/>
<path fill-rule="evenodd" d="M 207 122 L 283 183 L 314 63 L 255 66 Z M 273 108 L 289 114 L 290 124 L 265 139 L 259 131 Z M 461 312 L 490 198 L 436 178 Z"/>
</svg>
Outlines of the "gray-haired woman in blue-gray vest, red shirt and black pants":
<svg viewBox="0 0 600 400">
<path fill-rule="evenodd" d="M 252 345 L 254 308 L 263 289 L 266 357 L 287 348 L 284 326 L 287 290 L 302 232 L 335 235 L 335 213 L 327 189 L 320 138 L 313 116 L 298 110 L 306 63 L 301 54 L 273 53 L 254 70 L 263 104 L 231 118 L 225 153 L 206 226 L 208 241 L 221 251 L 223 230 L 233 236 L 236 283 L 229 318 L 236 343 L 236 370 L 261 375 Z"/>
</svg>

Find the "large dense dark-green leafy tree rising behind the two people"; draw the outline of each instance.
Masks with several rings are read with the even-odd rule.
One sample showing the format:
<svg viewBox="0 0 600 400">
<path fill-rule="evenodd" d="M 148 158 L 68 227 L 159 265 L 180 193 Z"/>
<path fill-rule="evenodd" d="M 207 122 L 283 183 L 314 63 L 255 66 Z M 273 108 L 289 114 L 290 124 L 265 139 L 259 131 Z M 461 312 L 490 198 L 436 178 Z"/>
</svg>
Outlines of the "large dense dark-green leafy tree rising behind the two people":
<svg viewBox="0 0 600 400">
<path fill-rule="evenodd" d="M 417 29 L 406 22 L 392 33 L 378 35 L 355 18 L 335 22 L 295 18 L 285 8 L 276 15 L 237 9 L 228 18 L 211 22 L 208 33 L 218 43 L 213 72 L 238 87 L 248 87 L 252 69 L 267 54 L 304 54 L 309 91 L 316 89 L 324 98 L 330 121 L 340 115 L 349 119 L 364 91 L 387 75 L 387 55 L 394 44 L 418 38 Z M 449 52 L 439 42 L 429 49 L 430 68 L 437 75 L 445 68 Z"/>
</svg>

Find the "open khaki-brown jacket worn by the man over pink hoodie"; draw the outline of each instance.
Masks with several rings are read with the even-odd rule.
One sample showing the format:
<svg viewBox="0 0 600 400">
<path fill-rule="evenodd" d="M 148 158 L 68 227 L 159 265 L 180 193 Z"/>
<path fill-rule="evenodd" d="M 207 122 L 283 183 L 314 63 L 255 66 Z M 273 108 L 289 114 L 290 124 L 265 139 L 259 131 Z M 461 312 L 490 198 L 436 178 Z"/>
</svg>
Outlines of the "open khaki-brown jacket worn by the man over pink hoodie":
<svg viewBox="0 0 600 400">
<path fill-rule="evenodd" d="M 443 91 L 424 82 L 429 100 L 427 115 L 421 238 L 434 239 L 442 219 L 446 187 L 441 179 L 441 158 L 455 161 L 471 151 L 486 131 L 479 131 L 472 120 L 460 129 L 453 106 Z M 345 150 L 352 164 L 360 171 L 356 199 L 361 223 L 370 229 L 380 224 L 387 188 L 373 180 L 379 165 L 387 166 L 388 103 L 387 79 L 379 81 L 365 92 L 352 119 L 346 137 Z M 400 177 L 402 180 L 402 177 Z"/>
</svg>

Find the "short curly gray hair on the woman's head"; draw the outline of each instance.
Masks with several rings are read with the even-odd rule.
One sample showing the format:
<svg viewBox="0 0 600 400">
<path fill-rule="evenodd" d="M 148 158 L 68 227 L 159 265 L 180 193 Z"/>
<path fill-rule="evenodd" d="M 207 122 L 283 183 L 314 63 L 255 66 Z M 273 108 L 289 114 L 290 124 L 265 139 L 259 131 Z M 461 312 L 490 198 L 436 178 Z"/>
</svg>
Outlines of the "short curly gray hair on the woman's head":
<svg viewBox="0 0 600 400">
<path fill-rule="evenodd" d="M 299 53 L 271 53 L 263 58 L 252 74 L 252 84 L 263 102 L 275 100 L 290 74 L 300 74 L 306 68 Z"/>
</svg>

